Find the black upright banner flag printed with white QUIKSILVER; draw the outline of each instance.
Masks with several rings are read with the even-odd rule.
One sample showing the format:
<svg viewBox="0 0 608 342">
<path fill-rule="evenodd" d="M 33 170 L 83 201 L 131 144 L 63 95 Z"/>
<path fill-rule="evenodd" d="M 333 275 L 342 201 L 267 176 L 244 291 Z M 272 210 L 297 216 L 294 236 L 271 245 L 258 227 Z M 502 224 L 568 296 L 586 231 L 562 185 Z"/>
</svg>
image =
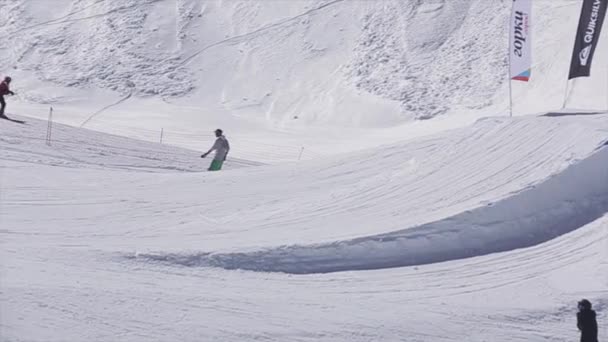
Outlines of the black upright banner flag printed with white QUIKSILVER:
<svg viewBox="0 0 608 342">
<path fill-rule="evenodd" d="M 608 0 L 584 0 L 572 51 L 569 80 L 591 75 L 593 53 L 600 39 L 607 7 Z"/>
</svg>

